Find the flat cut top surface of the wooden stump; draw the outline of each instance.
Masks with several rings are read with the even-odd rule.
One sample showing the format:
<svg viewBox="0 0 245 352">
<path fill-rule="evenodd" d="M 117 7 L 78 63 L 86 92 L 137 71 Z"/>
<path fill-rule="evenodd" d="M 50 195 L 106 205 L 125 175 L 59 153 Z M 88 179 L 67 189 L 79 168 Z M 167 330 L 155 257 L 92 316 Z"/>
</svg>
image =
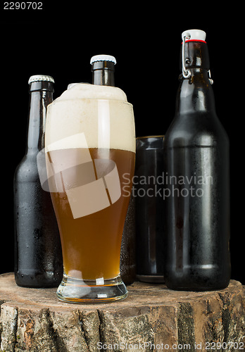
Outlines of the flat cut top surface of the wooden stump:
<svg viewBox="0 0 245 352">
<path fill-rule="evenodd" d="M 244 294 L 244 287 L 238 281 L 231 280 L 226 289 L 220 291 L 172 291 L 164 284 L 146 284 L 134 282 L 127 287 L 128 296 L 124 300 L 111 303 L 65 303 L 56 297 L 56 288 L 30 289 L 15 284 L 13 272 L 0 275 L 0 301 L 11 306 L 25 308 L 52 308 L 52 310 L 116 310 L 127 306 L 170 305 L 177 302 L 196 301 L 200 298 L 215 298 L 220 294 Z"/>
</svg>

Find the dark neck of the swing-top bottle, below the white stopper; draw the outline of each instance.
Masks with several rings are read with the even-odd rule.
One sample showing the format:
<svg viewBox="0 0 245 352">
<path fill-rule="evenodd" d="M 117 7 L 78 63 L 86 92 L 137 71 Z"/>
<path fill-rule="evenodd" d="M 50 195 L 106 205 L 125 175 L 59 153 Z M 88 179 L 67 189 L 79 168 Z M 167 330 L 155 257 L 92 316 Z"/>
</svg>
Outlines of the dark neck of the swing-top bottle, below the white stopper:
<svg viewBox="0 0 245 352">
<path fill-rule="evenodd" d="M 182 54 L 181 54 L 182 69 Z M 215 99 L 209 81 L 208 47 L 205 42 L 186 42 L 184 48 L 185 68 L 191 76 L 184 79 L 180 76 L 180 87 L 177 93 L 176 113 L 214 113 Z"/>
</svg>

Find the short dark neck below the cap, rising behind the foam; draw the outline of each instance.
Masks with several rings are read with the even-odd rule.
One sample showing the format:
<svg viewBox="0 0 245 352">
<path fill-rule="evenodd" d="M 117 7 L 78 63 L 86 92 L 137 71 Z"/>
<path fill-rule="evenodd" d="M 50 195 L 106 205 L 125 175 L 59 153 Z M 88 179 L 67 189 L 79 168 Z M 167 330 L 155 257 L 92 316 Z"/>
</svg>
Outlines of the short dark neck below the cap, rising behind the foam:
<svg viewBox="0 0 245 352">
<path fill-rule="evenodd" d="M 92 64 L 92 84 L 115 87 L 115 65 L 111 61 L 96 61 Z"/>
</svg>

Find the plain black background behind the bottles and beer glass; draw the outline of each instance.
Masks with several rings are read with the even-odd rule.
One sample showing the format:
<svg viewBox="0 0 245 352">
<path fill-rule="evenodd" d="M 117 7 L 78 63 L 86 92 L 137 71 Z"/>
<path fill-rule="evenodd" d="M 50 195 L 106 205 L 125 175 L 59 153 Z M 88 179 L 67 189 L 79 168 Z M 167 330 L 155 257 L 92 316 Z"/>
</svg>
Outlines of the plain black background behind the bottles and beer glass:
<svg viewBox="0 0 245 352">
<path fill-rule="evenodd" d="M 92 56 L 113 55 L 137 137 L 165 134 L 175 114 L 181 34 L 198 28 L 207 34 L 216 111 L 230 137 L 232 279 L 245 284 L 243 9 L 162 4 L 43 1 L 42 10 L 27 11 L 4 10 L 2 1 L 0 272 L 13 271 L 13 173 L 25 154 L 30 75 L 54 77 L 56 98 L 71 82 L 91 82 Z"/>
</svg>

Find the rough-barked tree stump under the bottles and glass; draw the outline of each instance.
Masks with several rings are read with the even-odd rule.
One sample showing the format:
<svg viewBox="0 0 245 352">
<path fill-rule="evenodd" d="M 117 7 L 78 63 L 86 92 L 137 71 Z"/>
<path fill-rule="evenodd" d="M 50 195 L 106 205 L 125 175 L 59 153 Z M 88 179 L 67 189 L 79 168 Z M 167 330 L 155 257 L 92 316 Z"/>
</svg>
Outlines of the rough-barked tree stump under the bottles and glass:
<svg viewBox="0 0 245 352">
<path fill-rule="evenodd" d="M 241 351 L 245 290 L 172 291 L 134 282 L 125 300 L 58 301 L 56 289 L 27 289 L 0 275 L 1 351 Z"/>
</svg>

